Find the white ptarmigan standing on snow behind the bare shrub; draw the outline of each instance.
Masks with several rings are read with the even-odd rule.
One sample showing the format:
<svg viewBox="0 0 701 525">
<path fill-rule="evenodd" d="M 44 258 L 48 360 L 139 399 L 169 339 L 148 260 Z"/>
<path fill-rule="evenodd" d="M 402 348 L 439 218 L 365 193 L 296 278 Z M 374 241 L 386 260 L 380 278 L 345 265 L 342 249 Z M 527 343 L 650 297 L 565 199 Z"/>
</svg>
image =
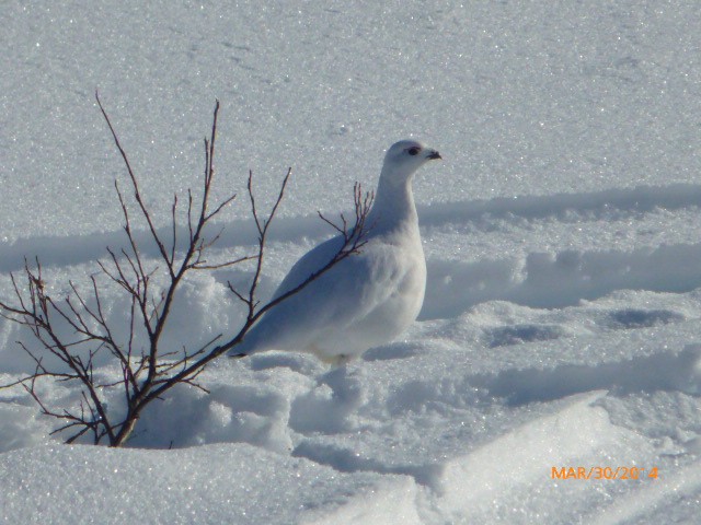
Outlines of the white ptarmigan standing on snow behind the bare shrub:
<svg viewBox="0 0 701 525">
<path fill-rule="evenodd" d="M 342 364 L 402 334 L 424 301 L 426 260 L 418 233 L 412 178 L 440 154 L 413 140 L 384 155 L 366 244 L 265 313 L 231 354 L 265 350 L 313 353 Z M 273 299 L 323 268 L 343 245 L 331 238 L 300 258 Z"/>
</svg>

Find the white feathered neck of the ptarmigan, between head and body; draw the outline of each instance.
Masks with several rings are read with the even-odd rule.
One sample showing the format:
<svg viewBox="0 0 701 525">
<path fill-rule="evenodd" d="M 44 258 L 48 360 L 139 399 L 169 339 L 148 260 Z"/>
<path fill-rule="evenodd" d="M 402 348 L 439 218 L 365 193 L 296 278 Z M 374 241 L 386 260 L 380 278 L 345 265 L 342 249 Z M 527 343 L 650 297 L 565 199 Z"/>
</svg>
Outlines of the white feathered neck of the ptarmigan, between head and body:
<svg viewBox="0 0 701 525">
<path fill-rule="evenodd" d="M 367 223 L 378 234 L 418 229 L 411 177 L 400 183 L 380 177 Z"/>
</svg>

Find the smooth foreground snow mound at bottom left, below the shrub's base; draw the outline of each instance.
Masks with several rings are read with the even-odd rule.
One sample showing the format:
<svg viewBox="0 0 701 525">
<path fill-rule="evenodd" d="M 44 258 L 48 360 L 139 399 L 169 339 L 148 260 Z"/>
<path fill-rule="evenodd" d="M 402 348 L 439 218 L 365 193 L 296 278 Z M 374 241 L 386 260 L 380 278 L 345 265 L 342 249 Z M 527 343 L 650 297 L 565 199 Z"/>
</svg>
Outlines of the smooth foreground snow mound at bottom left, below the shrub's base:
<svg viewBox="0 0 701 525">
<path fill-rule="evenodd" d="M 203 469 L 212 457 L 222 460 Z M 324 506 L 338 509 L 336 523 L 387 515 L 420 523 L 405 505 L 415 492 L 407 479 L 352 477 L 250 445 L 170 452 L 45 446 L 5 455 L 0 477 L 7 523 L 280 523 L 290 510 L 299 523 L 323 523 L 317 510 Z M 27 494 L 31 505 L 23 503 Z M 343 513 L 350 516 L 345 522 Z"/>
</svg>

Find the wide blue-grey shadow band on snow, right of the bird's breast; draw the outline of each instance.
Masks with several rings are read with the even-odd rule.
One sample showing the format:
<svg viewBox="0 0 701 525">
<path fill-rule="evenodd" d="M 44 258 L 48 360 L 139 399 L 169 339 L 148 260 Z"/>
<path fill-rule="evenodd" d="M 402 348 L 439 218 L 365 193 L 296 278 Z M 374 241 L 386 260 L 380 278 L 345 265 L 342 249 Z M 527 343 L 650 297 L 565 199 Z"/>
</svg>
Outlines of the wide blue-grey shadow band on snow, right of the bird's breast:
<svg viewBox="0 0 701 525">
<path fill-rule="evenodd" d="M 689 292 L 701 287 L 699 260 L 701 244 L 633 252 L 533 253 L 520 259 L 476 262 L 429 260 L 418 318 L 451 318 L 486 301 L 560 308 L 616 290 Z M 621 323 L 634 324 L 634 319 Z"/>
</svg>

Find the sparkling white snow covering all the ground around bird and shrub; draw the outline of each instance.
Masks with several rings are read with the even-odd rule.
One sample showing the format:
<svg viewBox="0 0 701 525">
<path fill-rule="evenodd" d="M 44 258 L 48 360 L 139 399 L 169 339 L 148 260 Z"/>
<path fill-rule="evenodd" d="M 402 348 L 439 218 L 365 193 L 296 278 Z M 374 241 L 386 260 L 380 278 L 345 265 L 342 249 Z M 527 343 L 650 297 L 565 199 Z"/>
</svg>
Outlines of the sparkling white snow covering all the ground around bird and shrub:
<svg viewBox="0 0 701 525">
<path fill-rule="evenodd" d="M 200 377 L 210 394 L 173 389 L 123 450 L 64 445 L 22 388 L 0 389 L 0 520 L 698 523 L 700 10 L 4 2 L 3 299 L 25 256 L 61 296 L 124 245 L 125 174 L 95 89 L 158 228 L 199 184 L 215 97 L 215 198 L 242 195 L 252 168 L 264 206 L 292 166 L 262 299 L 333 233 L 318 209 L 349 209 L 356 179 L 376 186 L 389 143 L 425 140 L 444 161 L 414 182 L 428 276 L 403 337 L 341 369 L 294 352 L 222 359 Z M 212 260 L 254 246 L 243 199 L 219 225 Z M 250 277 L 186 280 L 169 345 L 234 334 L 227 282 Z M 126 330 L 127 303 L 104 285 Z M 1 320 L 0 383 L 32 370 L 18 340 L 32 342 Z M 38 388 L 53 407 L 80 400 L 71 384 Z"/>
</svg>

